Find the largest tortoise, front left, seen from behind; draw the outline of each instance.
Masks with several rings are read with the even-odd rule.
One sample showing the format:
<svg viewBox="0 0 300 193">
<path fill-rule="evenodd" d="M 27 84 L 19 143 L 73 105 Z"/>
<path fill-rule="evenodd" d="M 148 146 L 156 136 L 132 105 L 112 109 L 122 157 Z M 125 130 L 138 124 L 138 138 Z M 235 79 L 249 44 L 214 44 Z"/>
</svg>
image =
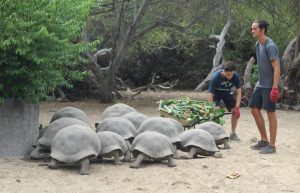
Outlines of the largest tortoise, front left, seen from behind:
<svg viewBox="0 0 300 193">
<path fill-rule="evenodd" d="M 82 125 L 65 127 L 52 140 L 49 168 L 57 168 L 58 162 L 80 163 L 80 174 L 88 175 L 89 159 L 98 156 L 100 150 L 100 139 L 90 128 Z"/>
</svg>

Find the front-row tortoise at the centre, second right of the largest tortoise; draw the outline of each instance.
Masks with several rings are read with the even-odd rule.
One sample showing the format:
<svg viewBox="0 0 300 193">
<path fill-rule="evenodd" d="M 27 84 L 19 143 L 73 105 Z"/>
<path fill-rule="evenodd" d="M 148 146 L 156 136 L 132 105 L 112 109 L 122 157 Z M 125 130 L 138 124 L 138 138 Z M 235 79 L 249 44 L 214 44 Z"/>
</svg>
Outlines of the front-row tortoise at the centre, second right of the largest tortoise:
<svg viewBox="0 0 300 193">
<path fill-rule="evenodd" d="M 168 137 L 155 132 L 146 131 L 134 139 L 132 143 L 132 155 L 135 161 L 130 164 L 131 168 L 140 168 L 143 160 L 162 161 L 168 160 L 168 166 L 174 167 L 173 146 Z"/>
</svg>

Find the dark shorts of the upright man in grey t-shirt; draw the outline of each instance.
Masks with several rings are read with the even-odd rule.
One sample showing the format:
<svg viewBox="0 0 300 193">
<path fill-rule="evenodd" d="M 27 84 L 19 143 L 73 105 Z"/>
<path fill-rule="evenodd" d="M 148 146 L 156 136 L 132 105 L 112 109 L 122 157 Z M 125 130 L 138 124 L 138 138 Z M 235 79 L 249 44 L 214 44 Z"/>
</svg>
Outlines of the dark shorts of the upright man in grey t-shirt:
<svg viewBox="0 0 300 193">
<path fill-rule="evenodd" d="M 255 87 L 249 101 L 249 106 L 274 112 L 276 109 L 276 102 L 271 102 L 270 92 L 271 88 Z"/>
</svg>

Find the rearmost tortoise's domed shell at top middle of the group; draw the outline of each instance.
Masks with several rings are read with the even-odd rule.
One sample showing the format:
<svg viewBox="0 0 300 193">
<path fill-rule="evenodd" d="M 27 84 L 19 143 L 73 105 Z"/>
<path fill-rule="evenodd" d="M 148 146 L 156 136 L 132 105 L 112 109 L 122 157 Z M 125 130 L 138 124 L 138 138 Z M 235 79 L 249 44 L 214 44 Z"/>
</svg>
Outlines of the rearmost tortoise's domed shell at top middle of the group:
<svg viewBox="0 0 300 193">
<path fill-rule="evenodd" d="M 124 103 L 117 103 L 107 107 L 101 114 L 100 120 L 95 123 L 95 127 L 98 127 L 98 124 L 106 118 L 110 117 L 120 117 L 126 113 L 137 112 L 133 107 L 126 105 Z"/>
</svg>

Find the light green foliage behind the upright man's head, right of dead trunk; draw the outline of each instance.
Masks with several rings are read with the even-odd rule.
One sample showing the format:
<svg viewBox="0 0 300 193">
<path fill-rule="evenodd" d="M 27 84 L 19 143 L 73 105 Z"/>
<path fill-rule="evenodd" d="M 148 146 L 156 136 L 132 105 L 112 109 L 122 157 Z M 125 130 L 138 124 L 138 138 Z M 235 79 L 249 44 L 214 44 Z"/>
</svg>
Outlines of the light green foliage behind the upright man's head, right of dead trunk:
<svg viewBox="0 0 300 193">
<path fill-rule="evenodd" d="M 282 53 L 298 30 L 297 12 L 292 4 L 293 0 L 232 0 L 234 22 L 230 39 L 237 46 L 237 55 L 243 55 L 245 49 L 249 50 L 249 43 L 254 45 L 256 40 L 252 37 L 250 26 L 256 18 L 270 23 L 267 35 L 276 42 Z"/>
</svg>

